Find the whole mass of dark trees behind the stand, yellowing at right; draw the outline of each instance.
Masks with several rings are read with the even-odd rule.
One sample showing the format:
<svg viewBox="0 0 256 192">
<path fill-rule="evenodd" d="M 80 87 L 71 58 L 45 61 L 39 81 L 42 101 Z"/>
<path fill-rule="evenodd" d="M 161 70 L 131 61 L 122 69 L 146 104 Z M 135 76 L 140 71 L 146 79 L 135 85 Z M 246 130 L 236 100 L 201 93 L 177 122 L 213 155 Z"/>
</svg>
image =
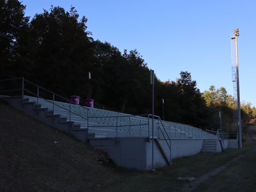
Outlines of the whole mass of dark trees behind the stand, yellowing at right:
<svg viewBox="0 0 256 192">
<path fill-rule="evenodd" d="M 108 42 L 93 40 L 87 18 L 74 7 L 66 12 L 53 7 L 24 16 L 26 6 L 18 0 L 0 0 L 0 76 L 25 77 L 41 87 L 69 98 L 88 98 L 106 109 L 131 114 L 151 113 L 150 72 L 140 53 Z M 232 131 L 233 97 L 224 87 L 201 93 L 189 72 L 180 72 L 176 81 L 162 82 L 155 76 L 155 115 L 162 119 L 196 126 L 219 128 L 222 111 L 224 128 Z M 164 104 L 163 104 L 164 99 Z M 255 108 L 242 104 L 244 123 Z M 163 116 L 164 114 L 164 116 Z"/>
</svg>

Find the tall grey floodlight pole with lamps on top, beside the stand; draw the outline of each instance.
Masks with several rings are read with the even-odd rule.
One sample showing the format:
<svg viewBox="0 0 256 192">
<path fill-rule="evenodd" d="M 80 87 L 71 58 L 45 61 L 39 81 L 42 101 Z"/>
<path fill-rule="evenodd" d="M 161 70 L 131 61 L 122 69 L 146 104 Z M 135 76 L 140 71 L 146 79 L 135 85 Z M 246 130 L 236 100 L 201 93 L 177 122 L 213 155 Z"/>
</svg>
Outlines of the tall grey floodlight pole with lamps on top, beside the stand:
<svg viewBox="0 0 256 192">
<path fill-rule="evenodd" d="M 231 36 L 236 42 L 236 84 L 237 84 L 237 110 L 238 110 L 238 125 L 239 125 L 239 147 L 242 147 L 242 131 L 241 131 L 241 109 L 240 109 L 240 91 L 239 91 L 239 70 L 238 70 L 238 49 L 237 37 L 239 36 L 239 29 L 234 28 L 234 36 Z"/>
</svg>

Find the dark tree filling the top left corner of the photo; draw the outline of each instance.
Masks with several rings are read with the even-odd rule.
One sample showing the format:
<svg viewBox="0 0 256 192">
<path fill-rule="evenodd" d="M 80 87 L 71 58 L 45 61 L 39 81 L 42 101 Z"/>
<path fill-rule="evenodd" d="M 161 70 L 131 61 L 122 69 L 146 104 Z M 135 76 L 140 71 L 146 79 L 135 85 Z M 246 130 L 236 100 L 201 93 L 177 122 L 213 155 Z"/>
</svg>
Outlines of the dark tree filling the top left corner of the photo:
<svg viewBox="0 0 256 192">
<path fill-rule="evenodd" d="M 28 74 L 29 17 L 18 0 L 0 0 L 0 73 L 2 78 Z M 29 65 L 29 66 L 28 66 Z"/>
</svg>

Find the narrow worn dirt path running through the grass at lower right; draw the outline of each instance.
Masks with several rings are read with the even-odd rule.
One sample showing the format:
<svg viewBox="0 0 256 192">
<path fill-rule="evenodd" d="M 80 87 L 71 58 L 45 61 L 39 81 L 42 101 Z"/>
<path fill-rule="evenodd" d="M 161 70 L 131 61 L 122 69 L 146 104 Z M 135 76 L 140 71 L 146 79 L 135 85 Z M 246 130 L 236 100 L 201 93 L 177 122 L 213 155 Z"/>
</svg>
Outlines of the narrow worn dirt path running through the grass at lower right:
<svg viewBox="0 0 256 192">
<path fill-rule="evenodd" d="M 229 162 L 227 162 L 226 164 L 224 164 L 223 166 L 218 167 L 217 169 L 208 172 L 207 174 L 203 175 L 202 177 L 200 177 L 198 180 L 192 181 L 190 183 L 187 183 L 186 185 L 183 186 L 183 188 L 180 190 L 181 192 L 192 192 L 193 190 L 195 190 L 195 188 L 200 185 L 201 183 L 206 182 L 207 180 L 210 179 L 210 177 L 217 175 L 218 173 L 220 173 L 222 170 L 226 169 L 227 166 L 229 166 L 231 163 L 241 159 L 242 157 L 244 157 L 244 155 L 240 155 L 236 158 L 234 158 L 233 160 L 230 160 Z"/>
</svg>

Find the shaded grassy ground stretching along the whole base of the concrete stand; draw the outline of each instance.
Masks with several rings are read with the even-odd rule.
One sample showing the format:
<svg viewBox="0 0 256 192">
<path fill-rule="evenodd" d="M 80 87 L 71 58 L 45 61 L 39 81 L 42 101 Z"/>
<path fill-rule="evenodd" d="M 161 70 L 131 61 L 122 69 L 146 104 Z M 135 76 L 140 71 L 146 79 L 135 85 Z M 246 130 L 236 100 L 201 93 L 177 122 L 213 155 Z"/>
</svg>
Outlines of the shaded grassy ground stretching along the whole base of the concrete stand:
<svg viewBox="0 0 256 192">
<path fill-rule="evenodd" d="M 102 151 L 0 103 L 0 191 L 180 191 L 186 182 L 177 177 L 198 179 L 245 155 L 195 191 L 228 191 L 225 186 L 230 184 L 241 189 L 245 179 L 247 183 L 256 180 L 256 153 L 248 152 L 251 150 L 255 151 L 255 145 L 182 157 L 154 172 L 117 168 L 99 161 L 106 157 Z M 241 182 L 235 180 L 240 176 L 244 178 Z M 218 185 L 220 182 L 224 184 Z M 247 191 L 253 189 L 253 185 L 247 186 Z"/>
</svg>

